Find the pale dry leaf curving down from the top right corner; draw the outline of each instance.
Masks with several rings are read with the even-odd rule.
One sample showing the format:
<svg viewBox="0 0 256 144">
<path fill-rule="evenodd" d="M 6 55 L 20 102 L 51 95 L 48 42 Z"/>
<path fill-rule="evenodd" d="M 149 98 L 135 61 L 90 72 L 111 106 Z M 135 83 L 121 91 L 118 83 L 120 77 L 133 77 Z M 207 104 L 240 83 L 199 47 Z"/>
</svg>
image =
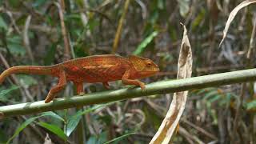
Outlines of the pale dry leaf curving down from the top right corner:
<svg viewBox="0 0 256 144">
<path fill-rule="evenodd" d="M 229 30 L 230 23 L 233 21 L 236 14 L 238 14 L 238 11 L 241 10 L 243 7 L 246 7 L 252 3 L 256 2 L 256 0 L 246 0 L 244 2 L 241 2 L 238 6 L 234 8 L 234 10 L 231 11 L 229 18 L 226 21 L 225 29 L 223 30 L 223 38 L 222 41 L 219 43 L 219 47 L 222 45 L 222 42 L 226 38 L 227 30 Z"/>
</svg>

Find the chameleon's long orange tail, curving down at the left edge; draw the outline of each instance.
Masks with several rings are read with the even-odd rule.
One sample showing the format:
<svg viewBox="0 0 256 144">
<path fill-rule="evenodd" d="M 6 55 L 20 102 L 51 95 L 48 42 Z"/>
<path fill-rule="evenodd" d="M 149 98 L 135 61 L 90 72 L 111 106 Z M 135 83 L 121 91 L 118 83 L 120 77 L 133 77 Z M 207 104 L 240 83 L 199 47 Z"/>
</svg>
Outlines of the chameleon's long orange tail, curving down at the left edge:
<svg viewBox="0 0 256 144">
<path fill-rule="evenodd" d="M 52 74 L 52 66 L 14 66 L 2 72 L 0 75 L 0 84 L 10 74 Z"/>
</svg>

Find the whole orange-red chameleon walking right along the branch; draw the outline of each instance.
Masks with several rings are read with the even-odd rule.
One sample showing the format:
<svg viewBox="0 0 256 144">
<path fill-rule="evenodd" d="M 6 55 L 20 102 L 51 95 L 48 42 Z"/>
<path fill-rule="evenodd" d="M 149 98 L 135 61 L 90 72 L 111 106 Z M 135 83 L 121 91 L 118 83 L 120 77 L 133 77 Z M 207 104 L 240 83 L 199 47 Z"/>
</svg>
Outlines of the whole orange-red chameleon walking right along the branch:
<svg viewBox="0 0 256 144">
<path fill-rule="evenodd" d="M 158 65 L 149 58 L 129 54 L 128 58 L 114 54 L 93 55 L 75 58 L 52 66 L 13 66 L 0 75 L 0 84 L 10 74 L 44 74 L 58 78 L 58 84 L 47 94 L 45 103 L 52 101 L 56 94 L 73 82 L 78 94 L 83 94 L 83 82 L 102 82 L 110 89 L 108 82 L 122 80 L 125 85 L 140 86 L 145 90 L 145 84 L 139 78 L 150 77 L 158 73 Z"/>
</svg>

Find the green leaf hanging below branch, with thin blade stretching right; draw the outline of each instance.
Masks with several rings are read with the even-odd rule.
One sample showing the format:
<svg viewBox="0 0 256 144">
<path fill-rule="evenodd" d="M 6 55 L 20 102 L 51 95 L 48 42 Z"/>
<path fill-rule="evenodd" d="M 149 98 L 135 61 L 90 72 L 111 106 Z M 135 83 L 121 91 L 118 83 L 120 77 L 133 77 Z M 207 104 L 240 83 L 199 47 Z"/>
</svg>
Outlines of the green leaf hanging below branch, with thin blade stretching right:
<svg viewBox="0 0 256 144">
<path fill-rule="evenodd" d="M 78 122 L 82 118 L 83 114 L 88 114 L 91 111 L 97 110 L 99 108 L 102 108 L 102 107 L 105 107 L 105 106 L 110 106 L 113 103 L 114 102 L 109 102 L 109 103 L 106 103 L 106 104 L 93 106 L 90 109 L 87 109 L 87 110 L 84 110 L 84 111 L 79 110 L 76 114 L 74 114 L 71 118 L 68 119 L 67 126 L 66 126 L 66 136 L 69 137 L 70 134 L 74 131 L 75 127 L 78 126 Z"/>
</svg>

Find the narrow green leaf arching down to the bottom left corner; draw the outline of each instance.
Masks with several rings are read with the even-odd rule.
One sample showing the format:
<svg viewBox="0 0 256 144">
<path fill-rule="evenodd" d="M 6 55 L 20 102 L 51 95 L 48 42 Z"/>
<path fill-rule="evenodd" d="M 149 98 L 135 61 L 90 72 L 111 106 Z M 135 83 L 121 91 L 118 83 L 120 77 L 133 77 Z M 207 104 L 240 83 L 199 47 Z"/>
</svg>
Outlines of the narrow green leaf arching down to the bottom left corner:
<svg viewBox="0 0 256 144">
<path fill-rule="evenodd" d="M 34 122 L 34 120 L 36 120 L 37 118 L 44 117 L 44 116 L 53 116 L 54 118 L 57 118 L 54 115 L 56 115 L 56 114 L 49 111 L 49 112 L 42 113 L 39 116 L 27 119 L 25 122 L 22 123 L 21 126 L 18 126 L 17 130 L 15 130 L 15 132 L 14 132 L 14 135 L 11 138 L 9 138 L 6 143 L 10 143 L 10 141 L 13 140 L 22 130 L 24 130 L 26 128 L 26 126 L 28 126 L 31 122 Z"/>
</svg>

